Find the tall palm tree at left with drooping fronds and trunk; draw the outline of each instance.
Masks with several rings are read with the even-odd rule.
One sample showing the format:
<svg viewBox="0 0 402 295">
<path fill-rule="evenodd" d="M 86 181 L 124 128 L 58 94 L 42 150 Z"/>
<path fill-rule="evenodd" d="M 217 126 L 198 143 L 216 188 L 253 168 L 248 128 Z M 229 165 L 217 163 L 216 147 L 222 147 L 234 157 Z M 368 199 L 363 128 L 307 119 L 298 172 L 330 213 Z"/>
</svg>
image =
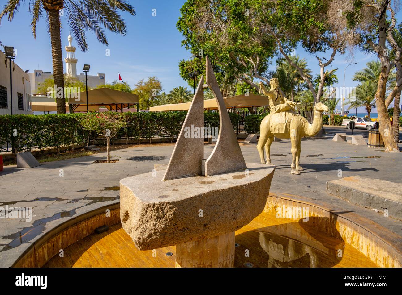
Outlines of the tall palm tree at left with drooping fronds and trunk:
<svg viewBox="0 0 402 295">
<path fill-rule="evenodd" d="M 12 21 L 14 14 L 24 0 L 8 0 L 0 14 L 1 20 L 7 16 Z M 29 11 L 32 12 L 31 28 L 36 39 L 36 24 L 42 16 L 46 16 L 51 41 L 51 53 L 53 59 L 53 78 L 57 87 L 61 87 L 60 98 L 57 98 L 57 114 L 66 112 L 66 100 L 64 98 L 64 70 L 62 40 L 60 37 L 60 10 L 66 14 L 70 30 L 81 50 L 88 51 L 86 31 L 92 31 L 98 41 L 108 45 L 104 28 L 113 33 L 125 36 L 126 24 L 118 10 L 135 15 L 133 6 L 125 0 L 31 0 Z M 44 11 L 45 10 L 45 11 Z M 60 88 L 59 88 L 60 89 Z"/>
</svg>

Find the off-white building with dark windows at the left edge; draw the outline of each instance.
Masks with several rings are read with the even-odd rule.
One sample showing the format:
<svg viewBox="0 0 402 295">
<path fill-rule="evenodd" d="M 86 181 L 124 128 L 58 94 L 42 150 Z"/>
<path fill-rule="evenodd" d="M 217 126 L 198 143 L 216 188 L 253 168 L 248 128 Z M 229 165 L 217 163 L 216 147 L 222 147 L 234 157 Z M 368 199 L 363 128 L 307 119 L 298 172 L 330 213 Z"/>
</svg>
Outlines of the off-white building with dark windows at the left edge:
<svg viewBox="0 0 402 295">
<path fill-rule="evenodd" d="M 0 51 L 0 114 L 11 114 L 10 61 Z M 12 114 L 33 114 L 31 110 L 31 83 L 29 75 L 11 62 Z"/>
</svg>

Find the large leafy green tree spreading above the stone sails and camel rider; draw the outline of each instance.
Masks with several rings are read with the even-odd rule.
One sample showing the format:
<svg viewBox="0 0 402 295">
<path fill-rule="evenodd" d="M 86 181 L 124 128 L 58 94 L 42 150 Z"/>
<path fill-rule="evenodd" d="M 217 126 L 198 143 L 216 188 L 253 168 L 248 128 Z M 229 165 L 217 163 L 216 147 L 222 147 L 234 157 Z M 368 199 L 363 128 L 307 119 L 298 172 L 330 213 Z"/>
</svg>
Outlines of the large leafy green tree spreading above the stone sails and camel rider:
<svg viewBox="0 0 402 295">
<path fill-rule="evenodd" d="M 202 65 L 208 55 L 215 73 L 234 76 L 258 91 L 259 80 L 268 83 L 265 73 L 271 58 L 279 52 L 297 69 L 318 102 L 324 68 L 347 45 L 344 31 L 327 22 L 328 7 L 327 0 L 188 0 L 180 10 L 177 27 L 183 33 L 183 45 L 194 58 L 180 61 L 180 76 L 191 85 L 188 73 L 194 69 L 204 73 Z M 304 70 L 290 58 L 298 44 L 309 53 L 332 51 L 325 63 L 317 57 L 321 75 L 317 91 Z"/>
</svg>

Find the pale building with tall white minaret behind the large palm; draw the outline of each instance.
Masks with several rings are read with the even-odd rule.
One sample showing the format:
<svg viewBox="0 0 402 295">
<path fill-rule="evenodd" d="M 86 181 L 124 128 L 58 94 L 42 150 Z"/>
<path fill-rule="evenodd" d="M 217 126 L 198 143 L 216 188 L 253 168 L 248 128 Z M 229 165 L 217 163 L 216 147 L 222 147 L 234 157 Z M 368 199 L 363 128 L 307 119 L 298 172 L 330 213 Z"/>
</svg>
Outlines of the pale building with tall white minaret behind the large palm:
<svg viewBox="0 0 402 295">
<path fill-rule="evenodd" d="M 72 46 L 73 38 L 71 35 L 68 36 L 68 46 L 66 49 L 66 58 L 64 61 L 66 62 L 66 73 L 65 75 L 69 75 L 70 77 L 76 77 L 82 83 L 85 83 L 85 73 L 80 73 L 77 75 L 77 62 L 78 59 L 75 57 L 76 47 Z M 42 70 L 34 70 L 33 73 L 29 73 L 29 77 L 31 79 L 31 93 L 38 94 L 38 86 L 45 81 L 47 78 L 53 78 L 53 74 L 51 72 L 42 71 Z M 88 88 L 95 88 L 98 85 L 105 85 L 105 74 L 97 73 L 97 75 L 87 75 L 88 79 Z"/>
</svg>

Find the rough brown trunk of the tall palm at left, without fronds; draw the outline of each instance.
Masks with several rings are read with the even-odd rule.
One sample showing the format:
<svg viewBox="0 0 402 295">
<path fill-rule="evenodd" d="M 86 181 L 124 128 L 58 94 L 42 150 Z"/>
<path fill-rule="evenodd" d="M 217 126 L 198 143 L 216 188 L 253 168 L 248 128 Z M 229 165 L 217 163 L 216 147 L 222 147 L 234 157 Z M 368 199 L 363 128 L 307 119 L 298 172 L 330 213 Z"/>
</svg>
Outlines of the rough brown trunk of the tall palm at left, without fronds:
<svg viewBox="0 0 402 295">
<path fill-rule="evenodd" d="M 60 18 L 59 10 L 49 10 L 49 26 L 51 54 L 53 58 L 53 79 L 56 85 L 56 105 L 57 114 L 66 113 L 66 100 L 64 98 L 64 71 L 63 71 L 63 52 L 62 39 L 60 37 Z"/>
</svg>

